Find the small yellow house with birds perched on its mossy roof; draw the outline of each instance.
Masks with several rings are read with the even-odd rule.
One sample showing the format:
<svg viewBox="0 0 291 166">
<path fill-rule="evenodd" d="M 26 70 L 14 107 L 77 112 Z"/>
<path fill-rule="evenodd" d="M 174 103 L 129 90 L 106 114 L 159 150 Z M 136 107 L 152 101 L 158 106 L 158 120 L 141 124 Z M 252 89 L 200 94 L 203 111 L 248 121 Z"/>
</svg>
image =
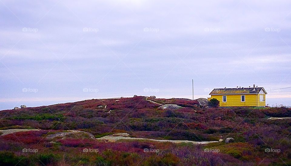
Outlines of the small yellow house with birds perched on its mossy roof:
<svg viewBox="0 0 291 166">
<path fill-rule="evenodd" d="M 219 107 L 265 107 L 267 92 L 263 87 L 213 89 L 208 100 L 216 98 Z"/>
</svg>

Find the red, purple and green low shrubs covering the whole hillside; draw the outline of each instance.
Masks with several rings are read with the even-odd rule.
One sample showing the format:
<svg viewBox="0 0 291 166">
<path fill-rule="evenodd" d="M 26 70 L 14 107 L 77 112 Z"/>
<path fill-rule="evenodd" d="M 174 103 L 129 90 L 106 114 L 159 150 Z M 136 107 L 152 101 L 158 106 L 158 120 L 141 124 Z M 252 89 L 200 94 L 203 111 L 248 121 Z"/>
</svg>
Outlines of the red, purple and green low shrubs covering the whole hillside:
<svg viewBox="0 0 291 166">
<path fill-rule="evenodd" d="M 133 97 L 0 111 L 2 130 L 40 129 L 0 136 L 0 165 L 291 165 L 291 119 L 268 120 L 291 117 L 289 108 L 206 109 L 191 100 L 150 100 L 184 108 L 162 110 L 145 97 Z M 235 141 L 194 145 L 106 142 L 80 134 L 47 138 L 67 130 L 95 138 L 127 132 L 136 138 Z"/>
</svg>

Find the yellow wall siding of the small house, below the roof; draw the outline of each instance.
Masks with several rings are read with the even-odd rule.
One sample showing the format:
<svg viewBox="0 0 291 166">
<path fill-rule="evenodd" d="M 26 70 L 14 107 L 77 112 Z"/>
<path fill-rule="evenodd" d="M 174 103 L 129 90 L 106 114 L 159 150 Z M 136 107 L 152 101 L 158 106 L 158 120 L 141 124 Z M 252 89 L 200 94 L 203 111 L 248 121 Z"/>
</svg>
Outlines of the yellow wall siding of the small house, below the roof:
<svg viewBox="0 0 291 166">
<path fill-rule="evenodd" d="M 226 95 L 211 95 L 208 100 L 216 98 L 219 100 L 220 107 L 265 107 L 266 106 L 266 95 L 265 94 L 244 94 L 245 102 L 241 101 L 242 94 L 226 94 Z M 260 101 L 259 95 L 263 95 L 265 101 Z M 222 96 L 226 96 L 226 102 L 222 102 Z"/>
</svg>

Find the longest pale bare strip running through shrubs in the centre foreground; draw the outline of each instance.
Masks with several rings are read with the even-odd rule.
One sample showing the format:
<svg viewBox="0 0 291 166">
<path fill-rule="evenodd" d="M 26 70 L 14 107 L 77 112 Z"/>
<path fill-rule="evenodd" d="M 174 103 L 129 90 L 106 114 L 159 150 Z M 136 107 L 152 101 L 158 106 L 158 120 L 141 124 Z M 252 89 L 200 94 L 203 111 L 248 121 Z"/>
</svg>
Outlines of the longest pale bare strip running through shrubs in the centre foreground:
<svg viewBox="0 0 291 166">
<path fill-rule="evenodd" d="M 195 141 L 188 141 L 188 140 L 161 140 L 161 139 L 148 139 L 148 138 L 132 138 L 129 137 L 128 133 L 120 133 L 120 134 L 113 134 L 113 135 L 109 135 L 109 136 L 104 136 L 101 138 L 97 138 L 97 139 L 105 139 L 108 141 L 112 141 L 115 142 L 117 140 L 120 139 L 130 139 L 130 140 L 149 140 L 149 141 L 158 141 L 158 142 L 173 142 L 173 143 L 193 143 L 193 144 L 208 144 L 208 143 L 213 143 L 213 142 L 222 142 L 222 139 L 219 139 L 219 141 L 202 141 L 202 142 L 195 142 Z"/>
</svg>

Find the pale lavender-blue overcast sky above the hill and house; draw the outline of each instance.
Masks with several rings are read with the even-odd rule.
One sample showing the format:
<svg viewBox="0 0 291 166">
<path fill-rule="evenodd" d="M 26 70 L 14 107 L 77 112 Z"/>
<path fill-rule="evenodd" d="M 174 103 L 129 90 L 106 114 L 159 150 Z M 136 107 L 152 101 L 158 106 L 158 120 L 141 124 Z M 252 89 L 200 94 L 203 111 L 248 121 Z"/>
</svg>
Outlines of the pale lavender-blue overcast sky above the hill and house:
<svg viewBox="0 0 291 166">
<path fill-rule="evenodd" d="M 209 97 L 256 84 L 291 105 L 291 1 L 0 0 L 0 110 Z M 282 92 L 286 91 L 286 92 Z"/>
</svg>

